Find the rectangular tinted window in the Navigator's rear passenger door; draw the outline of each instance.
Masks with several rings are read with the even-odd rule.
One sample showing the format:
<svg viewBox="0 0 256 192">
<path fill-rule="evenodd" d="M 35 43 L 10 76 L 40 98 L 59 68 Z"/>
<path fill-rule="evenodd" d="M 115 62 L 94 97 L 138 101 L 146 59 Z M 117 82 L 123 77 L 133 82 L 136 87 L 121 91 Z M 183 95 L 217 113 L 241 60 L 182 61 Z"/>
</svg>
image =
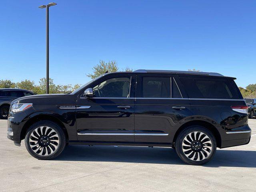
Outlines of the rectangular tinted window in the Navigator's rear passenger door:
<svg viewBox="0 0 256 192">
<path fill-rule="evenodd" d="M 170 98 L 170 77 L 143 77 L 142 97 L 148 98 Z"/>
</svg>

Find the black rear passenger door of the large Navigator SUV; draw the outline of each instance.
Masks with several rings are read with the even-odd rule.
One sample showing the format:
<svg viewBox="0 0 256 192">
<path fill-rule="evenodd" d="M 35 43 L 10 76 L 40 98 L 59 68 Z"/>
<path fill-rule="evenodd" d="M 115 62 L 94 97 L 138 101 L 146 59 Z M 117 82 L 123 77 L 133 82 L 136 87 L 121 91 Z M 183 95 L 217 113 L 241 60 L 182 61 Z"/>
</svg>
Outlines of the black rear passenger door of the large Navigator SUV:
<svg viewBox="0 0 256 192">
<path fill-rule="evenodd" d="M 190 120 L 190 100 L 176 75 L 137 76 L 135 142 L 170 143 L 176 130 Z"/>
</svg>

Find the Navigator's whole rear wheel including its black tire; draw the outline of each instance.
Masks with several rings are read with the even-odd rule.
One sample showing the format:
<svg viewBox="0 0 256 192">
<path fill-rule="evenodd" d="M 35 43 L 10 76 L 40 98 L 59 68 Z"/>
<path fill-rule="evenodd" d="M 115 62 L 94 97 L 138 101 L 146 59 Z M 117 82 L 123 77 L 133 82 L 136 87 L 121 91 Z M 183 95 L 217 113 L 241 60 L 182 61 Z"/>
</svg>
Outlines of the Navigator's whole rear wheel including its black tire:
<svg viewBox="0 0 256 192">
<path fill-rule="evenodd" d="M 178 135 L 175 148 L 178 156 L 187 164 L 208 163 L 216 152 L 216 139 L 202 126 L 189 126 Z"/>
</svg>

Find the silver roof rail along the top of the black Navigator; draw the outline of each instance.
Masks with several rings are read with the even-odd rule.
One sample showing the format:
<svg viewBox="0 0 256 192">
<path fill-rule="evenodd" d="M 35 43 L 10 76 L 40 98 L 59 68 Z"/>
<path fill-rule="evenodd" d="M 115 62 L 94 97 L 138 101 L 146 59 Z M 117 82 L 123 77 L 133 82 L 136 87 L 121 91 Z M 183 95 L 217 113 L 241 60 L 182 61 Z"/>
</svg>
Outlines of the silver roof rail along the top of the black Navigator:
<svg viewBox="0 0 256 192">
<path fill-rule="evenodd" d="M 173 71 L 173 70 L 145 70 L 139 69 L 133 71 L 134 73 L 182 73 L 182 74 L 197 74 L 197 75 L 210 75 L 210 76 L 223 76 L 219 73 L 212 72 L 197 72 L 197 71 Z"/>
</svg>

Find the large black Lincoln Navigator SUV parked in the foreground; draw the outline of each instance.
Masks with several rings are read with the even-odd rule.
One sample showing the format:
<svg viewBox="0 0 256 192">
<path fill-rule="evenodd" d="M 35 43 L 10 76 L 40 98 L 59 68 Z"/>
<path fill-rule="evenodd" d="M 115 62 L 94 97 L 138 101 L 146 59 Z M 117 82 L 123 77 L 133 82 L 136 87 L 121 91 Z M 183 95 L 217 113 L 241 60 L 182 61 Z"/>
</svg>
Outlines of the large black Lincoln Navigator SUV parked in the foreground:
<svg viewBox="0 0 256 192">
<path fill-rule="evenodd" d="M 16 99 L 8 138 L 35 158 L 66 144 L 175 148 L 186 163 L 209 162 L 216 147 L 248 144 L 248 106 L 235 78 L 218 73 L 136 70 L 107 73 L 71 94 Z"/>
</svg>

